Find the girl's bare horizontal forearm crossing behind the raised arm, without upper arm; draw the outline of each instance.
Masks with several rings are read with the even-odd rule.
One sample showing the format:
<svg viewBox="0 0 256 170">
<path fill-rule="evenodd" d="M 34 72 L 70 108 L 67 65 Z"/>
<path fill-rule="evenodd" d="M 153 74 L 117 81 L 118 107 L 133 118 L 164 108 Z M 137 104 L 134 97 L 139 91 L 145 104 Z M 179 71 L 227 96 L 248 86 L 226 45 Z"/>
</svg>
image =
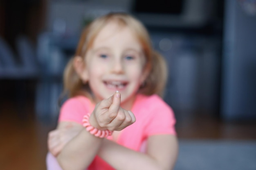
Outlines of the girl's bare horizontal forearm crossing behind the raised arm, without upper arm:
<svg viewBox="0 0 256 170">
<path fill-rule="evenodd" d="M 139 153 L 104 139 L 98 155 L 113 168 L 121 170 L 170 170 L 148 154 Z M 130 163 L 129 163 L 130 162 Z"/>
</svg>

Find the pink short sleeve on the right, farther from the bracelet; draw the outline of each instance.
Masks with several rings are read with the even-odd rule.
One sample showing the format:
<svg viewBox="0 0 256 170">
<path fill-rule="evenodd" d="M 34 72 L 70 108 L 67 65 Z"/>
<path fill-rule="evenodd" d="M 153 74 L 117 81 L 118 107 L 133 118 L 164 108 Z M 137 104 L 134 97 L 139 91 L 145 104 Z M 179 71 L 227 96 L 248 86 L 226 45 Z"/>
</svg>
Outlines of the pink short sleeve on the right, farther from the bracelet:
<svg viewBox="0 0 256 170">
<path fill-rule="evenodd" d="M 176 135 L 175 115 L 169 105 L 164 103 L 164 101 L 160 101 L 160 104 L 153 107 L 150 112 L 145 129 L 146 136 L 157 134 Z"/>
</svg>

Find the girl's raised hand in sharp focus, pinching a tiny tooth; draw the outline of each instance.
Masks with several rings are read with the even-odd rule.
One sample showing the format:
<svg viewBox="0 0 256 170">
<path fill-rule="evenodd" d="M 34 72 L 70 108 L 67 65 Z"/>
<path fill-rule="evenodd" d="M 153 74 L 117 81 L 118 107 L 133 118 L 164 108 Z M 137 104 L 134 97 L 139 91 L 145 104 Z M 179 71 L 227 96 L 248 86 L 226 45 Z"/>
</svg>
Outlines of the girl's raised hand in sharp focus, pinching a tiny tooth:
<svg viewBox="0 0 256 170">
<path fill-rule="evenodd" d="M 90 124 L 100 130 L 121 131 L 136 120 L 131 111 L 120 107 L 121 94 L 116 92 L 99 102 L 90 116 Z"/>
</svg>

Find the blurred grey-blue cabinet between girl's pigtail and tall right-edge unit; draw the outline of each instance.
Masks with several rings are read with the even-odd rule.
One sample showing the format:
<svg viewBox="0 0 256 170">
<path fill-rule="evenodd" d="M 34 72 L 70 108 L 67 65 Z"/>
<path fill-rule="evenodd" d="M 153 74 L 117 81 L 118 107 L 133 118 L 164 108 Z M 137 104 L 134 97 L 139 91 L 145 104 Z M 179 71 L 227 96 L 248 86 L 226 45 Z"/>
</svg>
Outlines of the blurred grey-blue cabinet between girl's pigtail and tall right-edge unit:
<svg viewBox="0 0 256 170">
<path fill-rule="evenodd" d="M 221 37 L 151 33 L 154 47 L 166 59 L 168 83 L 164 100 L 177 115 L 219 107 Z"/>
</svg>

